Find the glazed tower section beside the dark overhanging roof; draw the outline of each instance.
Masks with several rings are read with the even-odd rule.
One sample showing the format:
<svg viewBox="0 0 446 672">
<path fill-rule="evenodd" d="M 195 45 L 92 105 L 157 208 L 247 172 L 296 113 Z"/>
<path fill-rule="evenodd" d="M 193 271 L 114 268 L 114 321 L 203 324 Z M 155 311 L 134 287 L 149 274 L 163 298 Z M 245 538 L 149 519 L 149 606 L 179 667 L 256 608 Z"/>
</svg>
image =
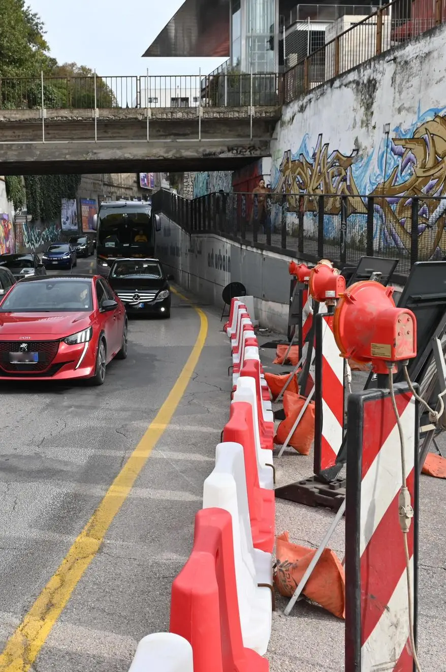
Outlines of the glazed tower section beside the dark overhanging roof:
<svg viewBox="0 0 446 672">
<path fill-rule="evenodd" d="M 242 0 L 244 5 L 244 70 L 273 73 L 276 69 L 277 0 Z"/>
</svg>

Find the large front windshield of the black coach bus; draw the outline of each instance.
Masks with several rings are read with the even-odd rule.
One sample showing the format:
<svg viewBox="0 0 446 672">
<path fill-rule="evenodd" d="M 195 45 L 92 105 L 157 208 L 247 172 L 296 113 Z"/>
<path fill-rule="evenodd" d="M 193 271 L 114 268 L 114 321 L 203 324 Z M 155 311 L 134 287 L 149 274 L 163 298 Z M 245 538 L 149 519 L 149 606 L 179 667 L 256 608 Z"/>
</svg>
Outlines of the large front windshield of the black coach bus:
<svg viewBox="0 0 446 672">
<path fill-rule="evenodd" d="M 150 210 L 104 208 L 99 214 L 97 244 L 110 252 L 122 247 L 153 245 Z"/>
</svg>

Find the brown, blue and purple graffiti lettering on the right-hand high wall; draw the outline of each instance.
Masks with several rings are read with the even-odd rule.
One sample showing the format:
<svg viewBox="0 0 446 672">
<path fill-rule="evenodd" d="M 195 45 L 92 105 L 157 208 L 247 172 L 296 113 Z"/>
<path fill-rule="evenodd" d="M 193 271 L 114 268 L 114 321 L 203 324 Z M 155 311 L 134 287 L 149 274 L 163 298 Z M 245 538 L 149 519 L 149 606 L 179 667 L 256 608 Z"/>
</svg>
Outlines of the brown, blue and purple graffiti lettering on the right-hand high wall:
<svg viewBox="0 0 446 672">
<path fill-rule="evenodd" d="M 324 234 L 336 235 L 341 196 L 348 196 L 347 216 L 353 217 L 351 235 L 365 235 L 367 199 L 375 196 L 374 236 L 377 247 L 396 246 L 410 251 L 412 197 L 420 198 L 418 258 L 446 253 L 446 108 L 418 114 L 410 128 L 394 128 L 368 156 L 357 149 L 342 153 L 330 149 L 322 134 L 314 148 L 304 137 L 298 152 L 283 153 L 273 173 L 273 191 L 289 194 L 288 211 L 297 212 L 297 196 L 306 196 L 305 210 L 316 218 L 318 200 L 325 194 Z M 383 198 L 385 196 L 385 198 Z M 316 222 L 314 222 L 316 226 Z M 313 228 L 313 227 L 311 227 Z"/>
</svg>

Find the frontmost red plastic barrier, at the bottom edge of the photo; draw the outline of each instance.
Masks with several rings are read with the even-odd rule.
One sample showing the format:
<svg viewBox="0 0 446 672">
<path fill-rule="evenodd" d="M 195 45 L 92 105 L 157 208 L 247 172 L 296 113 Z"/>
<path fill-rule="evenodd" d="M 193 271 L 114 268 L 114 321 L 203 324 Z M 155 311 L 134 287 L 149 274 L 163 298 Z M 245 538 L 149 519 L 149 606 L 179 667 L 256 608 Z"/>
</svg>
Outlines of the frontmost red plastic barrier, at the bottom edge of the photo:
<svg viewBox="0 0 446 672">
<path fill-rule="evenodd" d="M 172 585 L 170 631 L 190 642 L 194 672 L 269 671 L 265 658 L 243 646 L 228 511 L 195 516 L 193 549 Z"/>
</svg>

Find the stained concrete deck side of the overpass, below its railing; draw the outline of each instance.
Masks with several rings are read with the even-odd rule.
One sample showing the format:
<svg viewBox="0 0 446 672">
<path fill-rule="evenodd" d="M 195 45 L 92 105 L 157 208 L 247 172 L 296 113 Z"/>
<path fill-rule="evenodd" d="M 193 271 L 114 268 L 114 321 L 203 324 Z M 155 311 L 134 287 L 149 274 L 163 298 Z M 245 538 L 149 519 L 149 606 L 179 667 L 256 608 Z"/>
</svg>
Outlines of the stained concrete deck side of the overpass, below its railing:
<svg viewBox="0 0 446 672">
<path fill-rule="evenodd" d="M 275 107 L 2 111 L 0 175 L 236 170 L 269 155 Z"/>
</svg>

